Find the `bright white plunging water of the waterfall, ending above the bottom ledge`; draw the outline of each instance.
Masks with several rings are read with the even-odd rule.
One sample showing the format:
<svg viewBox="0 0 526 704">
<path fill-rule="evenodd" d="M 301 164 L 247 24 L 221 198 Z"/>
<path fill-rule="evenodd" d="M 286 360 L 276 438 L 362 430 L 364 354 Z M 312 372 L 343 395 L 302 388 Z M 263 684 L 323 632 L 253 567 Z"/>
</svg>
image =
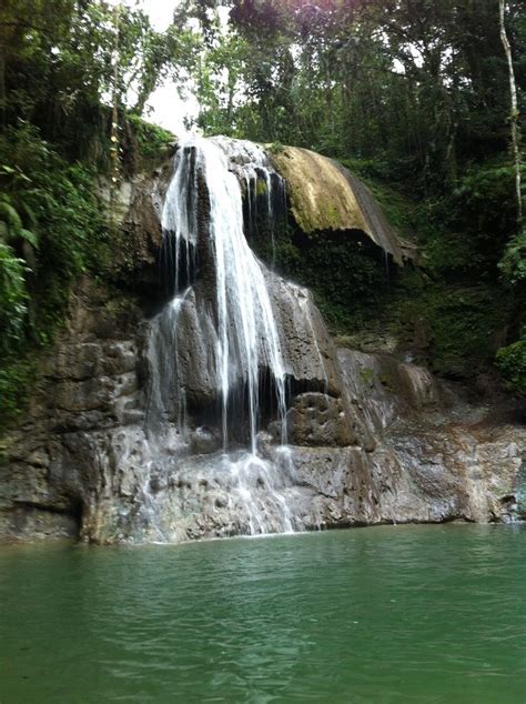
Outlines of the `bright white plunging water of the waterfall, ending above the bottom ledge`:
<svg viewBox="0 0 526 704">
<path fill-rule="evenodd" d="M 210 207 L 209 234 L 215 263 L 215 363 L 222 402 L 223 450 L 229 446 L 229 399 L 232 389 L 241 382 L 247 395 L 250 449 L 255 454 L 262 369 L 271 373 L 277 396 L 282 442 L 286 442 L 285 369 L 263 271 L 244 237 L 240 182 L 229 170 L 224 149 L 224 140 L 214 142 L 192 138 L 181 144 L 162 225 L 165 250 L 171 252 L 174 262 L 174 290 L 178 294 L 181 280 L 191 282 L 196 266 L 196 194 L 199 179 L 204 179 Z M 254 150 L 250 155 L 254 157 Z M 263 171 L 263 155 L 255 153 L 255 158 L 257 168 Z M 253 167 L 244 169 L 237 165 L 236 170 L 250 182 Z M 270 175 L 266 183 L 271 212 Z M 174 326 L 176 315 L 172 311 L 179 308 L 178 301 L 180 298 L 176 295 L 169 306 L 170 324 Z"/>
</svg>

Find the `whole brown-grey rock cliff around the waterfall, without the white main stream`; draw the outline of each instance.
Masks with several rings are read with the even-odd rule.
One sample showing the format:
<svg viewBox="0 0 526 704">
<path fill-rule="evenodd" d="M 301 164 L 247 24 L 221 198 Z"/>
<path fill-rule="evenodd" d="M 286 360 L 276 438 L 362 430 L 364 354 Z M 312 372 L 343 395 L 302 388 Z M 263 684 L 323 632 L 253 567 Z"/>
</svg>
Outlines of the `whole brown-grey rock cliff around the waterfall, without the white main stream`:
<svg viewBox="0 0 526 704">
<path fill-rule="evenodd" d="M 314 159 L 313 169 L 318 164 Z M 141 291 L 159 279 L 159 203 L 169 178 L 163 168 L 122 194 L 122 229 L 136 241 L 130 268 Z M 314 187 L 305 183 L 308 197 Z M 367 227 L 380 241 L 381 227 L 354 198 L 362 202 L 358 220 L 345 227 Z M 200 218 L 205 228 L 206 213 Z M 398 257 L 388 239 L 383 245 Z M 201 278 L 162 339 L 151 300 L 115 300 L 81 282 L 67 325 L 42 360 L 31 408 L 4 441 L 0 540 L 182 542 L 517 514 L 526 430 L 504 405 L 497 415 L 471 404 L 456 388 L 387 352 L 336 351 L 310 292 L 270 271 L 286 365 L 287 445 L 280 442 L 276 409 L 264 403 L 271 394 L 262 373 L 257 455 L 243 450 L 240 426 L 225 461 L 212 255 L 206 238 L 199 247 Z M 159 300 L 159 283 L 151 285 Z M 181 384 L 173 374 L 152 388 L 152 340 L 168 354 L 176 348 L 184 396 L 175 393 Z"/>
</svg>

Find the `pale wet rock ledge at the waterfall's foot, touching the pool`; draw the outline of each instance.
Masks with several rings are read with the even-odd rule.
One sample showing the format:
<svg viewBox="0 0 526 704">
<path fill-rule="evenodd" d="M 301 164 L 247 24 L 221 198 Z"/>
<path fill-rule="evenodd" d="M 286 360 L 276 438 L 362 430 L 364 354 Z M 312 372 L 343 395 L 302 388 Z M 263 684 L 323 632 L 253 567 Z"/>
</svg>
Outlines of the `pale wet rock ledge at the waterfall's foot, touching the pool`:
<svg viewBox="0 0 526 704">
<path fill-rule="evenodd" d="M 140 435 L 121 433 L 115 444 L 123 452 L 121 466 L 127 465 L 124 455 L 139 459 L 135 491 L 122 496 L 120 486 L 117 496 L 92 506 L 83 525 L 88 540 L 98 532 L 98 542 L 104 543 L 176 543 L 320 525 L 313 492 L 297 485 L 287 447 L 275 447 L 272 460 L 240 450 L 170 461 Z M 149 456 L 155 456 L 156 466 Z"/>
</svg>

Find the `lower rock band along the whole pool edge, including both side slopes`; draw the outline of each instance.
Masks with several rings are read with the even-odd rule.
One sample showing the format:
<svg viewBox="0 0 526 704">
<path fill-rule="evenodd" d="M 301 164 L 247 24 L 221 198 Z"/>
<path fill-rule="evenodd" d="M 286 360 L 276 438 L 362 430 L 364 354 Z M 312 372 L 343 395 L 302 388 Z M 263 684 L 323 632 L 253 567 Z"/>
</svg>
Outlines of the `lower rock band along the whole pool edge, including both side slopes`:
<svg viewBox="0 0 526 704">
<path fill-rule="evenodd" d="M 345 393 L 375 446 L 337 429 L 330 441 L 322 400 L 333 419 L 344 400 L 316 392 L 318 405 L 291 402 L 303 420 L 296 432 L 291 414 L 295 444 L 286 451 L 262 433 L 261 459 L 234 451 L 225 463 L 213 433 L 190 428 L 183 438 L 168 424 L 155 464 L 144 432 L 149 324 L 139 309 L 104 308 L 103 295 L 79 292 L 12 433 L 0 472 L 0 540 L 180 542 L 262 529 L 514 519 L 526 431 L 513 409 L 469 404 L 388 355 L 340 354 Z"/>
</svg>

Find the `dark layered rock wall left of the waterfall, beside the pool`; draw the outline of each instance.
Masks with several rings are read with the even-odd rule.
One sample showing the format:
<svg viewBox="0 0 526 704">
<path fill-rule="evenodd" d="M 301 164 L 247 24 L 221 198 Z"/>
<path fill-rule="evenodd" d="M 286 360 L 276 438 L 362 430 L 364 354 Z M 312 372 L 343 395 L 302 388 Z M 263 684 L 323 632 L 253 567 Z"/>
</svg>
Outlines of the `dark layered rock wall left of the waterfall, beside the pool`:
<svg viewBox="0 0 526 704">
<path fill-rule="evenodd" d="M 140 390 L 141 311 L 83 282 L 68 324 L 42 360 L 23 423 L 7 439 L 0 467 L 0 537 L 77 535 L 115 428 L 143 415 Z"/>
</svg>

